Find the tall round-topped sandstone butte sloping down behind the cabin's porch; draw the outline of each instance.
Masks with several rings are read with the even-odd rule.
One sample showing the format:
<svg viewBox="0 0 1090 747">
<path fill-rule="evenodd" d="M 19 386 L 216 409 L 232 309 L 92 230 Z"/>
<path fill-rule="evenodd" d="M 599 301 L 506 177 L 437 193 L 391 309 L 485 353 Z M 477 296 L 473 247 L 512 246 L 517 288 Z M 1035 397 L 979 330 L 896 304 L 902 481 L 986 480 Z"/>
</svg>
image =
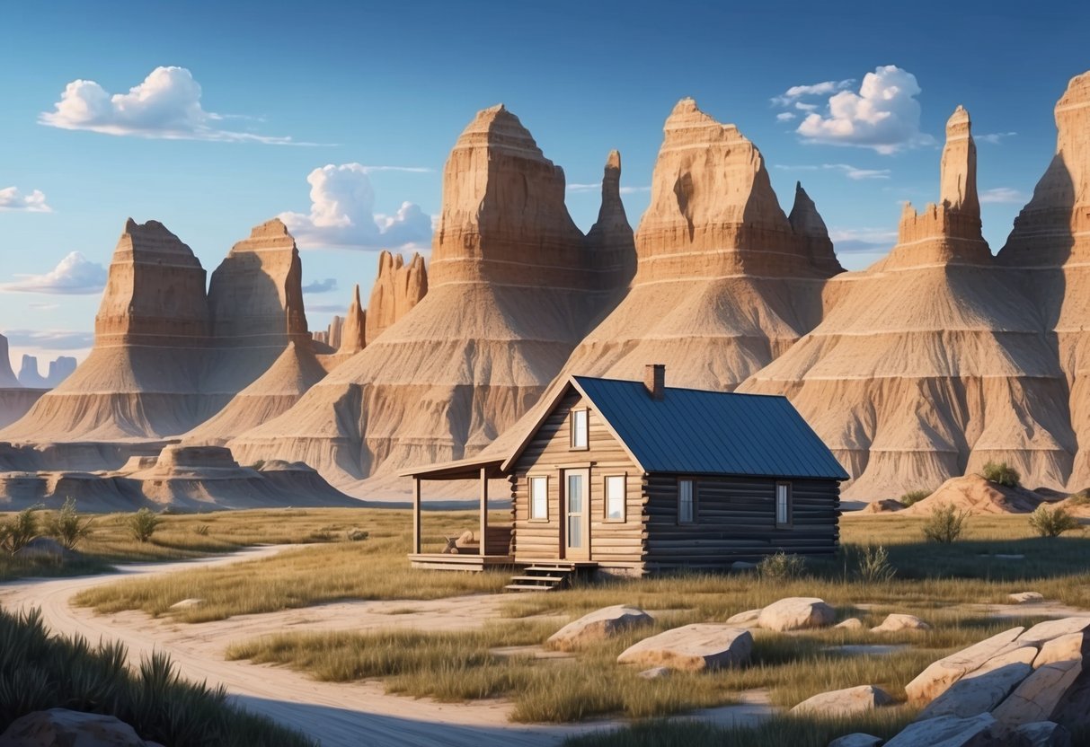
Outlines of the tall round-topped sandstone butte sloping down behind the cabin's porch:
<svg viewBox="0 0 1090 747">
<path fill-rule="evenodd" d="M 610 220 L 619 201 L 610 195 Z M 595 235 L 615 242 L 616 228 Z M 628 284 L 626 250 L 576 226 L 564 171 L 514 114 L 479 112 L 444 169 L 427 294 L 231 449 L 242 463 L 306 462 L 335 483 L 480 452 L 537 402 Z"/>
</svg>

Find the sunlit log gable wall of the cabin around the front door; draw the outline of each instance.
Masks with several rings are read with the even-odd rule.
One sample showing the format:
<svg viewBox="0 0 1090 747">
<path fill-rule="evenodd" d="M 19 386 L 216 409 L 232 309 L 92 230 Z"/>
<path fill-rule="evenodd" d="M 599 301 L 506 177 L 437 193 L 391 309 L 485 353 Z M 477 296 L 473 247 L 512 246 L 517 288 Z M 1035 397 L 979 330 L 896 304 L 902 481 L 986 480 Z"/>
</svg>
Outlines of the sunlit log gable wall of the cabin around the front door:
<svg viewBox="0 0 1090 747">
<path fill-rule="evenodd" d="M 589 406 L 578 392 L 564 397 L 535 433 L 514 465 L 511 503 L 514 521 L 517 562 L 555 561 L 561 558 L 560 469 L 591 470 L 591 560 L 602 565 L 639 568 L 646 537 L 643 512 L 643 474 L 637 472 L 628 453 L 590 407 L 585 451 L 569 448 L 568 414 L 573 407 Z M 605 521 L 605 477 L 627 474 L 625 522 Z M 548 477 L 548 522 L 531 522 L 528 476 Z"/>
</svg>

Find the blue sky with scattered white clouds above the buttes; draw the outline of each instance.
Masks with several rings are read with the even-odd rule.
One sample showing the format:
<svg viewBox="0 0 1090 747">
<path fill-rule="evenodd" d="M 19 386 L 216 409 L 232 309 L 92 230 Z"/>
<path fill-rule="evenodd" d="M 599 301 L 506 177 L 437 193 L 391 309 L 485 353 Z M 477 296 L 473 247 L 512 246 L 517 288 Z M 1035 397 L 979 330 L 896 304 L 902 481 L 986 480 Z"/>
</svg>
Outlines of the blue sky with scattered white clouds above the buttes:
<svg viewBox="0 0 1090 747">
<path fill-rule="evenodd" d="M 83 357 L 125 219 L 216 268 L 280 216 L 324 329 L 382 248 L 426 252 L 443 167 L 502 102 L 565 170 L 585 231 L 610 149 L 633 228 L 678 99 L 761 149 L 785 211 L 801 180 L 841 264 L 938 192 L 946 119 L 973 121 L 997 252 L 1090 69 L 1090 3 L 11 3 L 0 20 L 0 332 Z M 45 365 L 41 366 L 45 369 Z"/>
</svg>

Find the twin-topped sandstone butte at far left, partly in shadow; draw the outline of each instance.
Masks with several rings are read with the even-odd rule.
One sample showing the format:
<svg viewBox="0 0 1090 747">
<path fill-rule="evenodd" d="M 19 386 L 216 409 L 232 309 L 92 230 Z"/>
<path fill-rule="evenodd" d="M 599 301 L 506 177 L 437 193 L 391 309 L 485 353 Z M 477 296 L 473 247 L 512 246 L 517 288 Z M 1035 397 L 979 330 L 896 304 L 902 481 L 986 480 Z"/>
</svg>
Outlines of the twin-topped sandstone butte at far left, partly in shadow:
<svg viewBox="0 0 1090 747">
<path fill-rule="evenodd" d="M 215 415 L 289 345 L 308 345 L 301 266 L 279 220 L 213 274 L 157 221 L 130 219 L 110 262 L 87 359 L 0 439 L 133 441 Z"/>
</svg>

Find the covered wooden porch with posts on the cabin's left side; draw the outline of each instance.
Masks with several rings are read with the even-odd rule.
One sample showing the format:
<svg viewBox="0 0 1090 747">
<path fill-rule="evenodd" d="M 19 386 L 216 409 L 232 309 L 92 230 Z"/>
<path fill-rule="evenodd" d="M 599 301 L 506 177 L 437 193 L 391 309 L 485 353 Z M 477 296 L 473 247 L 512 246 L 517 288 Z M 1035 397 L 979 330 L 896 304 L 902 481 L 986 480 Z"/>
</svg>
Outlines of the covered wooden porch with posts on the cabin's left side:
<svg viewBox="0 0 1090 747">
<path fill-rule="evenodd" d="M 412 552 L 409 560 L 414 568 L 437 571 L 483 571 L 489 567 L 513 565 L 511 554 L 511 522 L 488 522 L 488 480 L 501 479 L 502 460 L 448 462 L 426 468 L 401 473 L 413 480 Z M 476 480 L 480 499 L 480 518 L 472 530 L 472 540 L 446 538 L 446 541 L 427 548 L 424 552 L 421 503 L 423 483 L 426 481 Z"/>
</svg>

